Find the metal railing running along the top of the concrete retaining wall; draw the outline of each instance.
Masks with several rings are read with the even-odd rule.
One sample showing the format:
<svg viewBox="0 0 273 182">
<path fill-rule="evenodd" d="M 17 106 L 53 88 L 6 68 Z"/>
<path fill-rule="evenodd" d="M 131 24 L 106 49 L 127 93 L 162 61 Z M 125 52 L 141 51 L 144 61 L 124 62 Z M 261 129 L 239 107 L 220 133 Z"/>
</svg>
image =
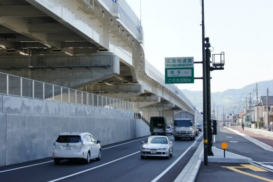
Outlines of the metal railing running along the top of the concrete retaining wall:
<svg viewBox="0 0 273 182">
<path fill-rule="evenodd" d="M 134 111 L 134 104 L 41 81 L 0 73 L 0 94 Z"/>
</svg>

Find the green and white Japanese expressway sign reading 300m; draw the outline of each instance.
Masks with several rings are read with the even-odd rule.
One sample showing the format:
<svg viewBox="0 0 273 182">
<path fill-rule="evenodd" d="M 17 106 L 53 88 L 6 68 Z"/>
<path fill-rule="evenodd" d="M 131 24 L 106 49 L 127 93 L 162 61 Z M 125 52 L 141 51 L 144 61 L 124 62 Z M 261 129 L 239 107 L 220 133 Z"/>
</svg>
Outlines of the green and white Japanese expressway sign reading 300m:
<svg viewBox="0 0 273 182">
<path fill-rule="evenodd" d="M 165 58 L 165 83 L 194 83 L 194 57 Z"/>
</svg>

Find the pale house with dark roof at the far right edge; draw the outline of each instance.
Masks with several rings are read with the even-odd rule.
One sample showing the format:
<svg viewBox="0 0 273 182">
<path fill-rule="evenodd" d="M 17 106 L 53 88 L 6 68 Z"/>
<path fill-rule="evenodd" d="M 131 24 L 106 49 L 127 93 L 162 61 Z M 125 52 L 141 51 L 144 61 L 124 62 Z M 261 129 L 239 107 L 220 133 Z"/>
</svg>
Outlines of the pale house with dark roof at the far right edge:
<svg viewBox="0 0 273 182">
<path fill-rule="evenodd" d="M 262 121 L 266 126 L 273 122 L 273 96 L 261 96 L 260 103 L 255 105 L 255 121 Z"/>
</svg>

